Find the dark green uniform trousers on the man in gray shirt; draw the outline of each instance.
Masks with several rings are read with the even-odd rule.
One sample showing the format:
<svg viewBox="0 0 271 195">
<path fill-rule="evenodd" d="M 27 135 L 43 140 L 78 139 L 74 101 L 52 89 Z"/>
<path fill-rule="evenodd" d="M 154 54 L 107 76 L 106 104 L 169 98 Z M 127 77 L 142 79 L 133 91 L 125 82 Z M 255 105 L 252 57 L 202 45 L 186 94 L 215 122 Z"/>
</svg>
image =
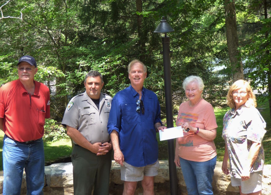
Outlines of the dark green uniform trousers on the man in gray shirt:
<svg viewBox="0 0 271 195">
<path fill-rule="evenodd" d="M 95 153 L 74 145 L 72 151 L 73 190 L 74 195 L 109 194 L 109 175 L 111 169 L 111 153 L 97 156 Z"/>
</svg>

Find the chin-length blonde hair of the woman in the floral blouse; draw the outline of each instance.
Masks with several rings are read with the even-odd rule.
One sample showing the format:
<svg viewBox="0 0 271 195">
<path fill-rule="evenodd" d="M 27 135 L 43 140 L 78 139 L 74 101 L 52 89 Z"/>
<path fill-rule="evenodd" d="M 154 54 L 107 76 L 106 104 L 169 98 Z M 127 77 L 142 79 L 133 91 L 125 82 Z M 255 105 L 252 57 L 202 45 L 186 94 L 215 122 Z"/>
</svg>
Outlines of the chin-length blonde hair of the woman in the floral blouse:
<svg viewBox="0 0 271 195">
<path fill-rule="evenodd" d="M 234 100 L 233 100 L 233 96 L 232 96 L 232 91 L 234 91 L 235 89 L 240 89 L 242 87 L 245 87 L 246 88 L 246 92 L 247 92 L 247 95 L 248 95 L 248 100 L 245 102 L 245 105 L 246 107 L 256 107 L 257 106 L 257 103 L 256 103 L 256 97 L 255 95 L 253 94 L 253 91 L 251 89 L 251 86 L 249 85 L 249 83 L 245 80 L 238 80 L 238 81 L 235 81 L 232 86 L 229 88 L 229 91 L 228 91 L 228 94 L 227 94 L 227 105 L 231 108 L 236 108 L 235 106 L 235 103 L 234 103 Z"/>
</svg>

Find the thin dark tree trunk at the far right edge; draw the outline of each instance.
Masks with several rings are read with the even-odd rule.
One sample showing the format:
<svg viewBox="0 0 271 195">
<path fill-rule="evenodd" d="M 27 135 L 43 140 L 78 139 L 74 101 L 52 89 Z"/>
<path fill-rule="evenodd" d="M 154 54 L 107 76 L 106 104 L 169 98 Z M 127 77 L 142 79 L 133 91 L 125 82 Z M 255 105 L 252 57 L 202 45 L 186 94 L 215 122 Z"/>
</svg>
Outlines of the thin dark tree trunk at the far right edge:
<svg viewBox="0 0 271 195">
<path fill-rule="evenodd" d="M 264 3 L 264 19 L 267 19 L 267 2 L 266 0 L 263 1 Z M 268 38 L 268 30 L 265 32 L 265 38 Z M 266 44 L 266 48 L 268 48 L 269 42 Z M 269 50 L 266 49 L 266 56 L 269 56 Z M 268 92 L 268 101 L 269 101 L 269 113 L 270 113 L 270 119 L 271 119 L 271 64 L 269 61 L 266 61 L 266 67 L 268 67 L 267 70 L 267 92 Z"/>
</svg>

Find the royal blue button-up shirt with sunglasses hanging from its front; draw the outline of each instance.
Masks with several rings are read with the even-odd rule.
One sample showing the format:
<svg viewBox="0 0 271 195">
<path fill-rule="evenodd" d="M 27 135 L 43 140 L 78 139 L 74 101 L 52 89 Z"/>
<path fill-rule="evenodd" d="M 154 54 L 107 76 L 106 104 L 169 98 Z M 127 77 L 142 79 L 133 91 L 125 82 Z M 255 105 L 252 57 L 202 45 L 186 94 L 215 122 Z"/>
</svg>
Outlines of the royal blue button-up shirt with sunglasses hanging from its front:
<svg viewBox="0 0 271 195">
<path fill-rule="evenodd" d="M 113 98 L 108 119 L 108 133 L 119 134 L 120 150 L 125 162 L 142 167 L 158 159 L 158 144 L 154 124 L 161 122 L 160 104 L 157 95 L 143 87 L 142 101 L 145 113 L 136 112 L 139 94 L 129 87 L 119 91 Z"/>
</svg>

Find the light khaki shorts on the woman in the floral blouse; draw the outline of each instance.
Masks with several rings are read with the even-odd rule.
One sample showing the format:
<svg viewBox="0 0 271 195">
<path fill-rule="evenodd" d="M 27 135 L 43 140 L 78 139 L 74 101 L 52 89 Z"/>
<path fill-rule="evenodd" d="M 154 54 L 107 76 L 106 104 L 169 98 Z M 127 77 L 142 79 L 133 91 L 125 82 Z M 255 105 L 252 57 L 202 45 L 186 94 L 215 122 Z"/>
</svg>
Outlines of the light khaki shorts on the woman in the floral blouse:
<svg viewBox="0 0 271 195">
<path fill-rule="evenodd" d="M 241 186 L 242 193 L 253 193 L 262 190 L 263 172 L 254 172 L 250 174 L 248 180 L 242 181 L 240 178 L 231 177 L 232 186 Z"/>
</svg>

